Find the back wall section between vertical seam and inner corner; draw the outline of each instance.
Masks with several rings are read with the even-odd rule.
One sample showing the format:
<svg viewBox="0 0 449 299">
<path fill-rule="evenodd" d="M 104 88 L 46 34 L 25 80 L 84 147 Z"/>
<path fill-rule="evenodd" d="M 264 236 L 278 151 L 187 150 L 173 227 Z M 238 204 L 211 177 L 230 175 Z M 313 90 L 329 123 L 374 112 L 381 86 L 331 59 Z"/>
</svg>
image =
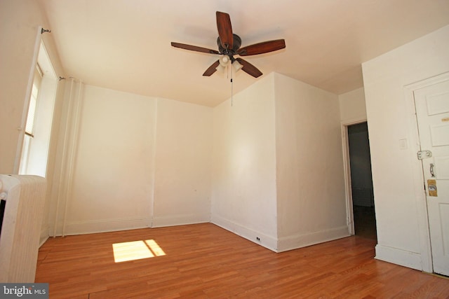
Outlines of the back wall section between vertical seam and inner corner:
<svg viewBox="0 0 449 299">
<path fill-rule="evenodd" d="M 158 99 L 153 226 L 210 221 L 212 108 Z"/>
</svg>

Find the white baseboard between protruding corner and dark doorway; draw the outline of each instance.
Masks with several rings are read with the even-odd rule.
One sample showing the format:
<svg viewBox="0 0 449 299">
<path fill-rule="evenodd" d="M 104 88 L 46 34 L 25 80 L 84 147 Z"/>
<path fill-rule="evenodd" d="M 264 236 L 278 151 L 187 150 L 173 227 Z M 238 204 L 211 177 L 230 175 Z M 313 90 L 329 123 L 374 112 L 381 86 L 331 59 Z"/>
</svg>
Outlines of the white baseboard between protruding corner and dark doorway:
<svg viewBox="0 0 449 299">
<path fill-rule="evenodd" d="M 335 239 L 341 239 L 343 237 L 349 237 L 347 225 L 340 226 L 339 228 L 332 228 L 330 230 L 321 230 L 319 232 L 311 232 L 308 234 L 281 237 L 278 242 L 278 252 L 298 249 Z"/>
</svg>

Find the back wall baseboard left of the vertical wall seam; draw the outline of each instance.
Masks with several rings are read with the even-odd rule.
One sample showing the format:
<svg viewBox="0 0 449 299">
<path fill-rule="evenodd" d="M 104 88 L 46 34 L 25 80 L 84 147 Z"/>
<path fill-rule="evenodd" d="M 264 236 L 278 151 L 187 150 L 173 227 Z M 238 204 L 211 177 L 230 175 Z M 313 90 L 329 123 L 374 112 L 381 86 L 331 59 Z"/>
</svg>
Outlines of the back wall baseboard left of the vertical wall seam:
<svg viewBox="0 0 449 299">
<path fill-rule="evenodd" d="M 65 225 L 65 235 L 84 235 L 96 232 L 114 232 L 119 230 L 133 230 L 135 228 L 149 228 L 151 218 L 107 219 L 102 221 L 79 221 Z M 60 235 L 60 234 L 58 234 Z"/>
</svg>

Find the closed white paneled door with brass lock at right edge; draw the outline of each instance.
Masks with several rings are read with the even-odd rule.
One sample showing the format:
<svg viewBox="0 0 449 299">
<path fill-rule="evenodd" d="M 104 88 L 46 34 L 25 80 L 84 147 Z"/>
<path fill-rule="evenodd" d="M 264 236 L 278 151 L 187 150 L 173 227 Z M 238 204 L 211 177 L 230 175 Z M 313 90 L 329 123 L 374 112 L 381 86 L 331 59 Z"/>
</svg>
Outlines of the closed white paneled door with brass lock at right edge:
<svg viewBox="0 0 449 299">
<path fill-rule="evenodd" d="M 414 91 L 434 272 L 449 275 L 449 81 Z M 431 156 L 430 156 L 431 155 Z"/>
</svg>

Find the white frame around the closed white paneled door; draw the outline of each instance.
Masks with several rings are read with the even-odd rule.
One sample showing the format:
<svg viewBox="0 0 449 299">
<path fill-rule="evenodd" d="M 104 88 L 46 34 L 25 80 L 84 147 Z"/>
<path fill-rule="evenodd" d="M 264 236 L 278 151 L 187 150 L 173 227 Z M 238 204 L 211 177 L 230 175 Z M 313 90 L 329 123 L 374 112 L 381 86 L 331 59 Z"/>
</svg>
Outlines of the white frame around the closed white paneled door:
<svg viewBox="0 0 449 299">
<path fill-rule="evenodd" d="M 449 72 L 438 74 L 430 78 L 404 85 L 403 90 L 406 99 L 406 112 L 408 115 L 408 138 L 410 142 L 410 167 L 413 171 L 415 204 L 417 207 L 417 222 L 420 228 L 420 257 L 422 270 L 424 272 L 434 272 L 433 260 L 431 255 L 431 242 L 429 230 L 429 214 L 427 211 L 427 197 L 424 190 L 424 169 L 422 162 L 417 159 L 417 151 L 421 151 L 420 135 L 415 109 L 415 90 L 426 88 L 429 85 L 441 83 L 449 80 Z M 411 153 L 413 152 L 413 154 Z"/>
</svg>

